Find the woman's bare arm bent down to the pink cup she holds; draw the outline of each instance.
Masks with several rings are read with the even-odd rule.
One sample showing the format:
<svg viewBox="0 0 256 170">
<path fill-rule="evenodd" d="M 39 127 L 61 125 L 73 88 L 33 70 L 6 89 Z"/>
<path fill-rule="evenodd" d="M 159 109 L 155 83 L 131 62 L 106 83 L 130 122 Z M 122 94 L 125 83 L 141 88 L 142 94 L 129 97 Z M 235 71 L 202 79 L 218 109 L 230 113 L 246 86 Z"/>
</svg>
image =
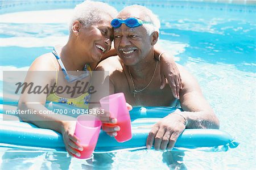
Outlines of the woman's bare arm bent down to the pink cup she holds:
<svg viewBox="0 0 256 170">
<path fill-rule="evenodd" d="M 52 80 L 56 79 L 56 70 L 52 57 L 48 54 L 37 58 L 27 72 L 24 83 L 35 87 L 50 87 Z M 24 88 L 24 86 L 23 86 Z M 40 128 L 47 128 L 58 131 L 63 135 L 66 150 L 70 155 L 79 155 L 77 150 L 81 150 L 79 139 L 74 135 L 76 121 L 75 118 L 50 112 L 44 105 L 46 104 L 47 92 L 30 93 L 29 87 L 23 89 L 20 95 L 18 109 L 22 111 L 32 111 L 34 114 L 19 114 L 19 117 L 26 122 L 31 122 Z M 26 112 L 25 112 L 26 113 Z M 43 114 L 47 113 L 47 114 Z"/>
</svg>

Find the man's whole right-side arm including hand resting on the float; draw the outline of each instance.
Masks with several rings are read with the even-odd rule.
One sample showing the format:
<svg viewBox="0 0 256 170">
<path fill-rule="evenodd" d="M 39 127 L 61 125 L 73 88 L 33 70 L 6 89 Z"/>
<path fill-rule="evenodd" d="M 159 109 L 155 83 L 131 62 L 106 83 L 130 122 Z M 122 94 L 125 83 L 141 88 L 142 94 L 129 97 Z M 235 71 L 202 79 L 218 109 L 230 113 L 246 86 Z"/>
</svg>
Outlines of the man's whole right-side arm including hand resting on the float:
<svg viewBox="0 0 256 170">
<path fill-rule="evenodd" d="M 180 103 L 184 112 L 175 112 L 157 122 L 147 138 L 147 148 L 171 150 L 185 128 L 219 128 L 218 118 L 205 100 L 196 79 L 179 66 L 183 79 Z"/>
</svg>

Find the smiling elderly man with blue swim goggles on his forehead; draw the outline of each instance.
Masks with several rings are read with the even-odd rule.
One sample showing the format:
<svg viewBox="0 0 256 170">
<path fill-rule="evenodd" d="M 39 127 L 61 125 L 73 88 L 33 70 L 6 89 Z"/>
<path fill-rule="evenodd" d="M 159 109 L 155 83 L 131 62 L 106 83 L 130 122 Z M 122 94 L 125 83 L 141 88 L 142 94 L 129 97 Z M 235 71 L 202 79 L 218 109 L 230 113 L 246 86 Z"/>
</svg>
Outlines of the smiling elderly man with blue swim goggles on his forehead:
<svg viewBox="0 0 256 170">
<path fill-rule="evenodd" d="M 175 112 L 157 122 L 147 137 L 147 148 L 154 143 L 155 150 L 171 150 L 185 128 L 219 128 L 218 118 L 205 100 L 196 79 L 177 65 L 182 79 L 180 100 L 172 94 L 170 86 L 159 89 L 159 61 L 154 56 L 160 22 L 146 7 L 133 5 L 119 12 L 112 20 L 114 46 L 119 58 L 102 61 L 97 70 L 108 70 L 109 92 L 123 92 L 127 103 L 133 106 L 181 105 L 184 112 Z M 105 131 L 115 135 L 114 128 Z"/>
</svg>

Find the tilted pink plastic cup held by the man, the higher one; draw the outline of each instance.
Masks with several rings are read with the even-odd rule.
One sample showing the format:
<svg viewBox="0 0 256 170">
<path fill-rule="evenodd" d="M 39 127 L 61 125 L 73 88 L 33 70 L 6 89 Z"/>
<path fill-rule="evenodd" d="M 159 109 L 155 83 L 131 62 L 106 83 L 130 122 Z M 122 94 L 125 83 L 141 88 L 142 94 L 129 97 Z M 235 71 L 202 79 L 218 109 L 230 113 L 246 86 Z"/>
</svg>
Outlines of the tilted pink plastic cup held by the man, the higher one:
<svg viewBox="0 0 256 170">
<path fill-rule="evenodd" d="M 103 97 L 100 100 L 102 109 L 110 112 L 110 117 L 117 118 L 117 124 L 104 124 L 106 126 L 120 127 L 115 139 L 117 142 L 125 142 L 131 139 L 131 119 L 126 106 L 125 95 L 123 93 L 113 94 Z"/>
</svg>

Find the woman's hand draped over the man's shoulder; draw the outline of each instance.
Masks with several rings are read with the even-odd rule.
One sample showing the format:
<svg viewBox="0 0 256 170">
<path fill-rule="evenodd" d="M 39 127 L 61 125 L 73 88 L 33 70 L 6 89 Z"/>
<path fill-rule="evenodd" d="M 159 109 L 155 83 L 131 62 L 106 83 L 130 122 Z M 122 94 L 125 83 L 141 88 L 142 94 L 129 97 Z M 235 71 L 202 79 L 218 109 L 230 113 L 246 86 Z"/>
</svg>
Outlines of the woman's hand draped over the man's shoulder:
<svg viewBox="0 0 256 170">
<path fill-rule="evenodd" d="M 180 98 L 180 89 L 182 89 L 180 71 L 176 66 L 174 57 L 170 54 L 163 53 L 160 56 L 160 75 L 161 75 L 161 86 L 163 89 L 166 86 L 166 79 L 169 82 L 169 86 L 172 90 L 172 95 L 177 99 Z"/>
</svg>

